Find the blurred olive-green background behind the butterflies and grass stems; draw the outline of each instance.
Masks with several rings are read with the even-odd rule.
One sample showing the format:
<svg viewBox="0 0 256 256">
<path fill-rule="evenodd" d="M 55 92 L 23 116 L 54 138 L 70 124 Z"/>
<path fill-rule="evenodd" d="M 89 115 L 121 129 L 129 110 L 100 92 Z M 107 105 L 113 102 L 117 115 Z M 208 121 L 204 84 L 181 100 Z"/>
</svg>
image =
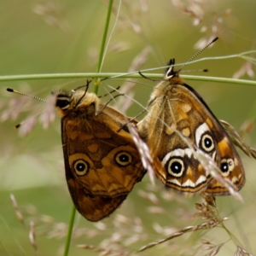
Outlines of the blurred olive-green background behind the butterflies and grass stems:
<svg viewBox="0 0 256 256">
<path fill-rule="evenodd" d="M 214 36 L 220 38 L 218 42 L 197 59 L 239 54 L 255 49 L 256 2 L 253 0 L 247 0 L 246 4 L 236 0 L 123 1 L 119 20 L 116 20 L 118 6 L 119 1 L 113 1 L 108 35 L 115 21 L 116 26 L 102 72 L 128 72 L 132 61 L 141 56 L 145 49 L 150 49 L 146 55 L 147 60 L 141 66 L 135 65 L 137 70 L 163 67 L 173 57 L 177 63 L 188 61 L 201 49 L 200 42 Z M 107 9 L 108 1 L 98 0 L 1 1 L 0 74 L 95 72 Z M 232 78 L 245 64 L 245 60 L 237 57 L 201 61 L 184 67 L 184 70 L 208 68 L 209 76 Z M 248 63 L 244 67 L 251 72 L 251 68 L 254 69 Z M 156 72 L 162 73 L 163 69 Z M 254 78 L 245 73 L 241 79 Z M 51 90 L 71 90 L 85 81 L 86 79 L 38 79 L 1 82 L 0 107 L 4 122 L 1 124 L 0 135 L 0 255 L 35 254 L 28 238 L 31 221 L 35 223 L 38 255 L 62 255 L 72 209 L 64 176 L 60 119 L 57 117 L 47 130 L 37 124 L 28 136 L 20 137 L 19 132 L 13 129 L 14 125 L 43 110 L 44 103 L 23 99 L 19 107 L 22 113 L 14 120 L 11 114 L 15 115 L 17 109 L 12 104 L 17 104 L 16 101 L 22 96 L 10 94 L 5 89 L 10 87 L 47 98 Z M 144 85 L 136 84 L 132 89 L 134 99 L 146 106 L 155 83 L 145 79 L 139 79 L 139 82 Z M 247 121 L 253 124 L 255 87 L 189 80 L 186 82 L 201 94 L 218 119 L 228 121 L 236 131 Z M 101 85 L 99 95 L 106 93 L 107 84 L 117 86 L 123 84 L 123 81 L 108 80 L 108 83 Z M 134 103 L 126 113 L 134 116 L 141 110 Z M 249 146 L 256 147 L 255 131 L 245 134 L 243 139 Z M 218 210 L 221 217 L 230 218 L 225 224 L 241 242 L 241 246 L 249 253 L 256 253 L 256 160 L 250 159 L 241 151 L 239 153 L 247 175 L 247 183 L 241 190 L 244 202 L 232 197 L 218 198 Z M 21 224 L 16 218 L 10 194 L 15 195 L 25 224 Z M 194 202 L 199 201 L 200 197 L 184 198 L 166 192 L 160 183 L 153 187 L 146 175 L 122 207 L 101 224 L 91 224 L 77 214 L 76 232 L 69 255 L 98 255 L 98 252 L 84 251 L 77 245 L 111 247 L 114 244 L 113 234 L 121 237 L 120 243 L 123 242 L 124 251 L 133 251 L 150 241 L 166 237 L 168 232 L 175 231 L 172 227 L 182 229 L 188 225 L 200 224 L 198 218 L 193 218 L 196 212 Z M 124 222 L 120 220 L 120 214 L 125 216 Z M 116 224 L 117 219 L 122 228 Z M 131 231 L 132 227 L 140 226 L 139 219 L 142 220 L 142 230 Z M 161 230 L 160 227 L 170 229 Z M 125 238 L 125 232 L 129 235 L 134 232 L 135 240 L 140 234 L 140 239 L 134 243 L 129 242 L 129 237 Z M 106 241 L 109 237 L 111 239 Z M 226 242 L 218 255 L 233 255 L 236 251 L 236 244 L 229 241 L 227 233 L 215 228 L 192 232 L 167 242 L 166 247 L 158 246 L 142 254 L 154 255 L 157 252 L 163 255 L 204 255 L 207 251 L 200 250 L 201 239 L 211 241 L 214 245 Z"/>
</svg>

